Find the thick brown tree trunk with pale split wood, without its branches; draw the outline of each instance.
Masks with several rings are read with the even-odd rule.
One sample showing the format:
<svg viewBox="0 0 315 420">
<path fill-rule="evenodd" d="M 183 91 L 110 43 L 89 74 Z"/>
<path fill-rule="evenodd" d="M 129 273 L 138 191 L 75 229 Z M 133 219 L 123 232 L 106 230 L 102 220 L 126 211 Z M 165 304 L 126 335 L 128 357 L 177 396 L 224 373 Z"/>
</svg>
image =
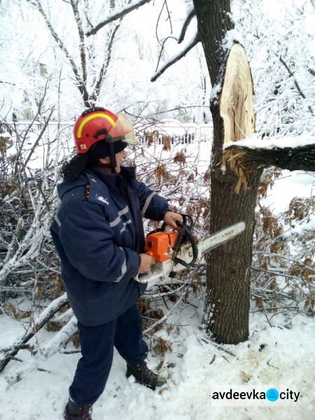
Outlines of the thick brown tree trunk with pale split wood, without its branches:
<svg viewBox="0 0 315 420">
<path fill-rule="evenodd" d="M 239 221 L 246 223 L 242 235 L 209 255 L 204 321 L 207 332 L 219 342 L 237 344 L 248 338 L 255 202 L 262 169 L 252 169 L 246 184 L 242 183 L 241 174 L 223 166 L 223 143 L 237 141 L 255 131 L 253 83 L 244 48 L 237 43 L 228 47 L 231 32 L 223 43 L 226 32 L 233 29 L 230 1 L 194 0 L 194 3 L 211 83 L 218 92 L 211 98 L 214 144 L 210 232 Z"/>
</svg>

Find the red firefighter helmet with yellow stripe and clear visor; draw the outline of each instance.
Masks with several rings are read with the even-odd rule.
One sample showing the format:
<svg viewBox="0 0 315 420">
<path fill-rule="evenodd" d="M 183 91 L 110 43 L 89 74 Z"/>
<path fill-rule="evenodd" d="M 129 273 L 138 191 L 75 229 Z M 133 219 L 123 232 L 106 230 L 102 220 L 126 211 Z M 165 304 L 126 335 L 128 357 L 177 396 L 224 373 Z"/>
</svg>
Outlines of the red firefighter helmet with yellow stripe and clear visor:
<svg viewBox="0 0 315 420">
<path fill-rule="evenodd" d="M 80 115 L 73 127 L 73 137 L 77 153 L 87 153 L 99 140 L 137 143 L 130 120 L 123 113 L 116 115 L 101 107 L 87 109 Z"/>
</svg>

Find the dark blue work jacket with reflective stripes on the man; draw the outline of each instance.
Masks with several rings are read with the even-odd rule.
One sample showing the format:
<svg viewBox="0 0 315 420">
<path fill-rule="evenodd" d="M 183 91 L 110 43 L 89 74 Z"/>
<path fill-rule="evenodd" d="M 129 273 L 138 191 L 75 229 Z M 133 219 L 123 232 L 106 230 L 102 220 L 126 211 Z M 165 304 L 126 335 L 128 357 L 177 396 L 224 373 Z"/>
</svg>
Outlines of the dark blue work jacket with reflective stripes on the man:
<svg viewBox="0 0 315 420">
<path fill-rule="evenodd" d="M 61 205 L 50 226 L 73 312 L 83 325 L 111 321 L 146 290 L 134 276 L 144 252 L 142 216 L 160 221 L 167 200 L 121 174 L 85 170 L 57 185 Z"/>
</svg>

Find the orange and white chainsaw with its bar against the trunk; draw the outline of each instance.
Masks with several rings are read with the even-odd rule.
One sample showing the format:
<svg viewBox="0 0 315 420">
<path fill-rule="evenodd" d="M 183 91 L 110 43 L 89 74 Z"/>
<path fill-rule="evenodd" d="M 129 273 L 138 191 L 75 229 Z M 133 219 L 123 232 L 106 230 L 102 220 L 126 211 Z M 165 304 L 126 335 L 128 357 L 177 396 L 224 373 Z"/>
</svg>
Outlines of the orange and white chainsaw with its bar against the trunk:
<svg viewBox="0 0 315 420">
<path fill-rule="evenodd" d="M 166 223 L 153 230 L 146 237 L 145 251 L 155 260 L 149 272 L 138 274 L 139 283 L 160 278 L 174 278 L 178 272 L 188 267 L 195 267 L 204 262 L 204 255 L 225 242 L 230 241 L 245 230 L 245 223 L 239 222 L 228 226 L 202 239 L 193 236 L 193 218 L 181 214 L 183 223 L 176 222 L 179 230 L 166 231 Z M 189 220 L 189 223 L 188 223 Z"/>
</svg>

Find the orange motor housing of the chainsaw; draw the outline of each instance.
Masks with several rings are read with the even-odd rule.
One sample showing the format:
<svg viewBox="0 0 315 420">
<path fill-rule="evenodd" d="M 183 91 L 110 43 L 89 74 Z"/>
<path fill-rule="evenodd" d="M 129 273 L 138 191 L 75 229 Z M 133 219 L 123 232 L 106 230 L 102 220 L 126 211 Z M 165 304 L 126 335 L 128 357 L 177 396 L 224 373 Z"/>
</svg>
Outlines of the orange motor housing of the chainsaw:
<svg viewBox="0 0 315 420">
<path fill-rule="evenodd" d="M 157 262 L 172 258 L 171 248 L 174 248 L 179 232 L 155 232 L 146 238 L 145 250 Z"/>
</svg>

